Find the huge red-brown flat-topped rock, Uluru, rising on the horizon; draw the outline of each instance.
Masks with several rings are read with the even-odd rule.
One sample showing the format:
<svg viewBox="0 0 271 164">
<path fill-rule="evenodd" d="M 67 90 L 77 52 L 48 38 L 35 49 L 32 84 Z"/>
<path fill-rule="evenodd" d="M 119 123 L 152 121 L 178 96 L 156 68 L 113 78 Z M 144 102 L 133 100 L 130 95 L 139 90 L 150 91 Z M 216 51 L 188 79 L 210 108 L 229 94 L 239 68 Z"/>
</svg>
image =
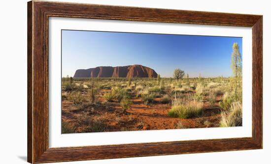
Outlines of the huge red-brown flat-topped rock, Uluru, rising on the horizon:
<svg viewBox="0 0 271 164">
<path fill-rule="evenodd" d="M 89 69 L 78 69 L 74 78 L 157 78 L 157 73 L 142 65 L 100 66 Z"/>
</svg>

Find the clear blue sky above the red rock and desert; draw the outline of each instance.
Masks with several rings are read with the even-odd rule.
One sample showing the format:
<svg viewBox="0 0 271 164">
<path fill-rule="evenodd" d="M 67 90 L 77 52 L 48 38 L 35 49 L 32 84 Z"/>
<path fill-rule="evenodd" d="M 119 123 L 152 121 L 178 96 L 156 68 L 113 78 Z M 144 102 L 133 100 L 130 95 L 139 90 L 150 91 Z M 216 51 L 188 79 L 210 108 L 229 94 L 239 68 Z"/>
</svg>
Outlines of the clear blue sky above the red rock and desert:
<svg viewBox="0 0 271 164">
<path fill-rule="evenodd" d="M 62 76 L 77 69 L 141 64 L 161 77 L 176 68 L 190 78 L 232 75 L 232 46 L 242 56 L 242 38 L 128 32 L 62 30 Z"/>
</svg>

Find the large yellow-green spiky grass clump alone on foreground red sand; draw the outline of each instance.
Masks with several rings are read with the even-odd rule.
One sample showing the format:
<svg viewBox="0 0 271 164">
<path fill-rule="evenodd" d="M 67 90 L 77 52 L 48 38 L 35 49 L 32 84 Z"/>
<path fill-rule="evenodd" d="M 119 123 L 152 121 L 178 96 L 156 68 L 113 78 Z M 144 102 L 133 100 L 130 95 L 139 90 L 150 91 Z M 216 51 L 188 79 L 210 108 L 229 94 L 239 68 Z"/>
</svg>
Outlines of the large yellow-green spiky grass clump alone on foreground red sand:
<svg viewBox="0 0 271 164">
<path fill-rule="evenodd" d="M 201 114 L 203 102 L 193 98 L 182 98 L 176 96 L 172 99 L 172 108 L 169 109 L 169 116 L 180 118 L 191 118 Z"/>
</svg>

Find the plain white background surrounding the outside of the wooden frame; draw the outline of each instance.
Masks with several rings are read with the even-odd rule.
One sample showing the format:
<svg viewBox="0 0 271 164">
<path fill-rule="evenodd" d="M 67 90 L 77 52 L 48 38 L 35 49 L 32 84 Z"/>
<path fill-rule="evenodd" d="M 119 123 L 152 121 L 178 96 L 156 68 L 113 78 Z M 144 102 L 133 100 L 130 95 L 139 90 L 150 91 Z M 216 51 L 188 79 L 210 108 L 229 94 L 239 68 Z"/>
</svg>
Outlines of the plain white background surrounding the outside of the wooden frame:
<svg viewBox="0 0 271 164">
<path fill-rule="evenodd" d="M 271 152 L 271 12 L 268 0 L 65 0 L 97 4 L 264 15 L 264 149 L 71 162 L 70 164 L 269 164 Z M 0 2 L 0 163 L 24 164 L 27 156 L 27 0 Z M 67 163 L 68 164 L 68 163 Z"/>
</svg>

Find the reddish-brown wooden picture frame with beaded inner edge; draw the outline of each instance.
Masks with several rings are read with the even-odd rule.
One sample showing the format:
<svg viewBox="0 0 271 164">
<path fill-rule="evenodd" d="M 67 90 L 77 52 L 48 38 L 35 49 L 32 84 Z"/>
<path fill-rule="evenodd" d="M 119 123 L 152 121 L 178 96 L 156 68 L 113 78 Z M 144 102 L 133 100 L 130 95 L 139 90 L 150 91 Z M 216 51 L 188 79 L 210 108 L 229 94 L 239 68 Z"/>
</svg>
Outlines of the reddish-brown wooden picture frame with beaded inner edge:
<svg viewBox="0 0 271 164">
<path fill-rule="evenodd" d="M 252 137 L 165 141 L 101 146 L 48 146 L 49 17 L 252 27 Z M 262 149 L 263 16 L 49 1 L 28 2 L 28 162 Z"/>
</svg>

